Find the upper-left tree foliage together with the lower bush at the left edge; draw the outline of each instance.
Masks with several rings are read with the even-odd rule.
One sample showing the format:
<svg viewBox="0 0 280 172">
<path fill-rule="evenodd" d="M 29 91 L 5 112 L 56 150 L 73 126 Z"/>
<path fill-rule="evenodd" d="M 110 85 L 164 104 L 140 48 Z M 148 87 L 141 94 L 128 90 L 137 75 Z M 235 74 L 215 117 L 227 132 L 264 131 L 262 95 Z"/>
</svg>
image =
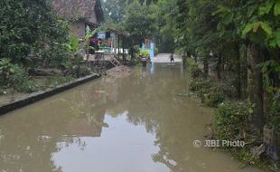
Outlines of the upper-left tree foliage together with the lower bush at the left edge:
<svg viewBox="0 0 280 172">
<path fill-rule="evenodd" d="M 46 0 L 3 0 L 0 8 L 0 87 L 37 91 L 30 72 L 70 61 L 68 24 Z"/>
</svg>

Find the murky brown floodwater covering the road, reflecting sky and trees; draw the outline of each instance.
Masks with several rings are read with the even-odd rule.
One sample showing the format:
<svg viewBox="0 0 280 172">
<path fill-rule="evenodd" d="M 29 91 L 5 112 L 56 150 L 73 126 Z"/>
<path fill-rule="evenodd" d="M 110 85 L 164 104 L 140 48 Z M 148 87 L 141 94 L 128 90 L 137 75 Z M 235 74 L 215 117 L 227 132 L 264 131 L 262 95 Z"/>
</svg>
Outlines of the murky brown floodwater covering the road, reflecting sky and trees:
<svg viewBox="0 0 280 172">
<path fill-rule="evenodd" d="M 179 96 L 181 64 L 135 67 L 0 117 L 1 172 L 257 172 L 194 148 L 212 110 Z"/>
</svg>

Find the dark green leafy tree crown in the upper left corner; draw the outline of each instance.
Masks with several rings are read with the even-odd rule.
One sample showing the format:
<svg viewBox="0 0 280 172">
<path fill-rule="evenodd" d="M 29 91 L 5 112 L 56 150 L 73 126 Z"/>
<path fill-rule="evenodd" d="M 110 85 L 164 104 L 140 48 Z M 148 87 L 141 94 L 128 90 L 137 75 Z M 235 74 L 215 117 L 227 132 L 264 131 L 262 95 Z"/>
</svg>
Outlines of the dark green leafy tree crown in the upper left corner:
<svg viewBox="0 0 280 172">
<path fill-rule="evenodd" d="M 0 58 L 23 65 L 60 66 L 67 43 L 67 24 L 52 12 L 46 0 L 0 2 Z M 38 63 L 39 62 L 39 63 Z"/>
</svg>

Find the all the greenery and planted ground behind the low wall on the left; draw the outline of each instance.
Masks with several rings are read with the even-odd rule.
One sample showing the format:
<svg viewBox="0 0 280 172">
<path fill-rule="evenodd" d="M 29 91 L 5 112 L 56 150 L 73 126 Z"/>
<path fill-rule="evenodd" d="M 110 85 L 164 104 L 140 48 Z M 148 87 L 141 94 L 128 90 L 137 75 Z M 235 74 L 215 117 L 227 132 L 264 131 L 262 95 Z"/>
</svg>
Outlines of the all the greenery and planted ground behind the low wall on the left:
<svg viewBox="0 0 280 172">
<path fill-rule="evenodd" d="M 45 90 L 91 73 L 80 41 L 49 1 L 0 2 L 0 95 Z"/>
</svg>

